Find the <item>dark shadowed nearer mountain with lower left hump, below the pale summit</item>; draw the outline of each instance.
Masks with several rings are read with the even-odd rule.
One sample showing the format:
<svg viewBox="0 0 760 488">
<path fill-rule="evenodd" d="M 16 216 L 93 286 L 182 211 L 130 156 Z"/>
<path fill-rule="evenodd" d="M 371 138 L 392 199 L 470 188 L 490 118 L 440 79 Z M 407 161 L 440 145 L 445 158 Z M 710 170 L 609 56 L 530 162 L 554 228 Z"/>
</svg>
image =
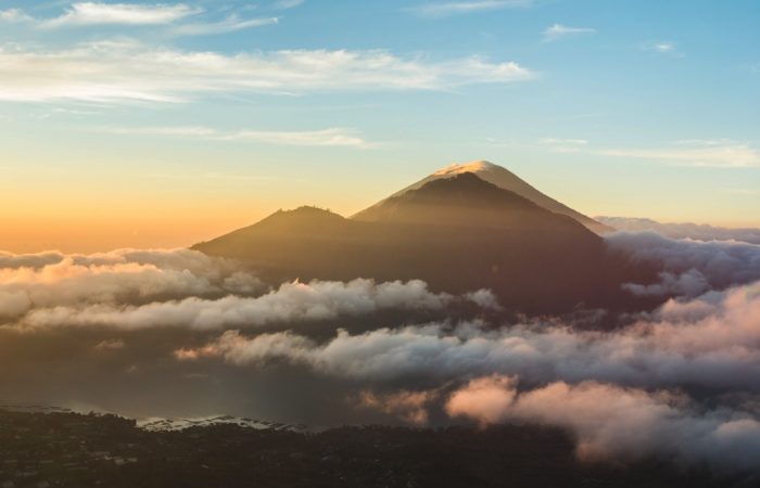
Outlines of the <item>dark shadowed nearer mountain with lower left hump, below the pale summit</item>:
<svg viewBox="0 0 760 488">
<path fill-rule="evenodd" d="M 435 291 L 491 288 L 514 311 L 618 303 L 622 268 L 603 240 L 471 172 L 436 178 L 346 219 L 314 207 L 197 244 L 271 281 L 420 279 Z"/>
</svg>

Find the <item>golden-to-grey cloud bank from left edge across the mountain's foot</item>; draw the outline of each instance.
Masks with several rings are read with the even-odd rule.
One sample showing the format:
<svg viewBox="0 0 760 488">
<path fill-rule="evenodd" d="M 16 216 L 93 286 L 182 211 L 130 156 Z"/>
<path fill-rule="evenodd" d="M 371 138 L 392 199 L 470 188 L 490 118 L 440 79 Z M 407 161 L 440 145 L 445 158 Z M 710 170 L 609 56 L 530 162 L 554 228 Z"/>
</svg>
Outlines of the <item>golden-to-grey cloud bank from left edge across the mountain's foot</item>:
<svg viewBox="0 0 760 488">
<path fill-rule="evenodd" d="M 244 328 L 444 310 L 457 301 L 501 309 L 490 291 L 455 297 L 419 280 L 296 281 L 267 292 L 240 262 L 188 249 L 0 254 L 0 317 L 22 329 Z"/>
</svg>

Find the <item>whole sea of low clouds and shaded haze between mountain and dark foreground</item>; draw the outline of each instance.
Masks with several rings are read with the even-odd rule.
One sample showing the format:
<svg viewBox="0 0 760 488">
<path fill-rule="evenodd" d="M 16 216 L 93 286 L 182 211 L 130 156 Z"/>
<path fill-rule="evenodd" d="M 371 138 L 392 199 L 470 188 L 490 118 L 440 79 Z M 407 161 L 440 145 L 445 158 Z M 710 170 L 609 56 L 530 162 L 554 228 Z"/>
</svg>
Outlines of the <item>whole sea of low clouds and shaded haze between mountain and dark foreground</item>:
<svg viewBox="0 0 760 488">
<path fill-rule="evenodd" d="M 661 272 L 621 283 L 659 305 L 605 329 L 419 280 L 267 284 L 187 249 L 0 253 L 0 389 L 143 416 L 531 422 L 569 429 L 584 460 L 757 471 L 760 245 L 606 242 Z"/>
</svg>

